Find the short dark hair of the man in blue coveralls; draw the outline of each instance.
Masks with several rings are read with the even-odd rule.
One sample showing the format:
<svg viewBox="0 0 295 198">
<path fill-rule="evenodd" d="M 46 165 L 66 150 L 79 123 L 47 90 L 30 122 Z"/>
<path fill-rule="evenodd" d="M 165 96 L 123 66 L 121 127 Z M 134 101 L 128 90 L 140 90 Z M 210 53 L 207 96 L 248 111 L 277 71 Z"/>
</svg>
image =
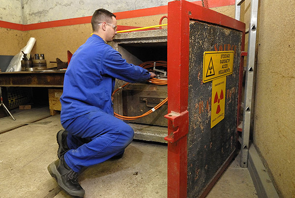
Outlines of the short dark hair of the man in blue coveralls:
<svg viewBox="0 0 295 198">
<path fill-rule="evenodd" d="M 91 18 L 92 31 L 96 32 L 98 30 L 98 24 L 104 21 L 112 22 L 112 17 L 116 18 L 116 15 L 106 9 L 100 8 L 95 10 Z"/>
</svg>

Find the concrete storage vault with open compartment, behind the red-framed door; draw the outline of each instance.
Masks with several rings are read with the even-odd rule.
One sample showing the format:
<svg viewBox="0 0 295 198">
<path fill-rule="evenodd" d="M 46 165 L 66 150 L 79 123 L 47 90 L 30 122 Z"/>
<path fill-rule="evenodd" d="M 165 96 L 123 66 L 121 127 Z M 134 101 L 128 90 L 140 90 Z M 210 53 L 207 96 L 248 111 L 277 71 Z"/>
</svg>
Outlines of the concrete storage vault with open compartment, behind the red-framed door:
<svg viewBox="0 0 295 198">
<path fill-rule="evenodd" d="M 143 32 L 119 33 L 111 45 L 127 63 L 140 65 L 148 61 L 167 61 L 167 29 Z M 124 85 L 116 81 L 116 88 Z M 167 85 L 154 85 L 148 82 L 125 86 L 114 96 L 114 111 L 124 116 L 138 116 L 147 112 L 167 98 Z M 129 121 L 136 139 L 166 142 L 167 103 L 148 116 Z"/>
</svg>

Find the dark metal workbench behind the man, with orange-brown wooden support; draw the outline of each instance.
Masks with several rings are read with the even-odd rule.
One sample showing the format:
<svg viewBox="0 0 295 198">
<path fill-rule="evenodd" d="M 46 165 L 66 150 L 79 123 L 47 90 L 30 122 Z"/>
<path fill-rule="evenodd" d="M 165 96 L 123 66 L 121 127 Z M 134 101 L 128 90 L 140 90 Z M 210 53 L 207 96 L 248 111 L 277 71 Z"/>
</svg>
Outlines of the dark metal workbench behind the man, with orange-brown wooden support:
<svg viewBox="0 0 295 198">
<path fill-rule="evenodd" d="M 50 115 L 57 114 L 61 105 L 65 70 L 0 72 L 0 87 L 48 87 Z"/>
</svg>

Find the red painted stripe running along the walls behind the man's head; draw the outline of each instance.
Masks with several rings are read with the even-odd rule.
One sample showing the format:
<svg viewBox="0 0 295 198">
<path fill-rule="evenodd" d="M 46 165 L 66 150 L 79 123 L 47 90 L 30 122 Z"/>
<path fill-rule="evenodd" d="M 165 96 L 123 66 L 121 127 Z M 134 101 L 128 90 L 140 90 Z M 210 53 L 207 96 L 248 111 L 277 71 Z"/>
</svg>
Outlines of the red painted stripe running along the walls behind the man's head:
<svg viewBox="0 0 295 198">
<path fill-rule="evenodd" d="M 235 0 L 207 0 L 207 1 L 208 1 L 209 8 L 235 4 Z M 202 5 L 201 0 L 194 1 L 193 3 Z M 168 6 L 163 5 L 163 6 L 144 8 L 144 9 L 138 9 L 138 10 L 116 12 L 114 14 L 117 16 L 116 17 L 117 19 L 129 19 L 129 18 L 152 16 L 152 15 L 158 15 L 158 14 L 167 14 L 167 12 L 168 12 Z M 38 29 L 44 29 L 44 28 L 55 28 L 55 27 L 61 27 L 61 26 L 86 24 L 90 22 L 91 22 L 91 16 L 87 16 L 87 17 L 57 20 L 57 21 L 34 23 L 34 24 L 28 24 L 28 25 L 0 21 L 0 27 L 13 29 L 13 30 L 20 30 L 20 31 L 29 31 L 29 30 L 38 30 Z"/>
</svg>

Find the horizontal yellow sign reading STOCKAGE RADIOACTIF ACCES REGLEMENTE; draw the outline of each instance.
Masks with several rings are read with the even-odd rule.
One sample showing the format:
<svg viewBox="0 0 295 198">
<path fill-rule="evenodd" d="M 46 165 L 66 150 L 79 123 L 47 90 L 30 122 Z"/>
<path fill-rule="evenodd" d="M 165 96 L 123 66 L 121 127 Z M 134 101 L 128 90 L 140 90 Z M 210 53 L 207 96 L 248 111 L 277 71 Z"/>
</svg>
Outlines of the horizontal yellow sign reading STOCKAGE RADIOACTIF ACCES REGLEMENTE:
<svg viewBox="0 0 295 198">
<path fill-rule="evenodd" d="M 204 52 L 203 82 L 233 73 L 234 51 Z"/>
</svg>

